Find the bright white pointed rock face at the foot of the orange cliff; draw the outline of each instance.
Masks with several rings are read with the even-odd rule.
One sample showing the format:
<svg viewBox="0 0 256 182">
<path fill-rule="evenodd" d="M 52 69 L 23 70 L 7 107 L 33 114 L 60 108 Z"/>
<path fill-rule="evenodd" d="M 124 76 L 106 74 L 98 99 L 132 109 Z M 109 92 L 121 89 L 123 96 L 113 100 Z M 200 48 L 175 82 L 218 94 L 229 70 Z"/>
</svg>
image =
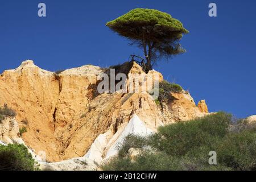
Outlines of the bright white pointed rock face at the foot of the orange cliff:
<svg viewBox="0 0 256 182">
<path fill-rule="evenodd" d="M 137 114 L 134 114 L 133 118 L 129 121 L 125 129 L 122 133 L 117 132 L 114 137 L 109 141 L 107 148 L 109 148 L 108 152 L 106 152 L 105 159 L 109 159 L 112 156 L 118 154 L 118 147 L 122 144 L 123 140 L 129 134 L 140 135 L 142 137 L 147 137 L 151 135 L 153 131 L 148 129 L 144 123 L 139 119 Z"/>
</svg>

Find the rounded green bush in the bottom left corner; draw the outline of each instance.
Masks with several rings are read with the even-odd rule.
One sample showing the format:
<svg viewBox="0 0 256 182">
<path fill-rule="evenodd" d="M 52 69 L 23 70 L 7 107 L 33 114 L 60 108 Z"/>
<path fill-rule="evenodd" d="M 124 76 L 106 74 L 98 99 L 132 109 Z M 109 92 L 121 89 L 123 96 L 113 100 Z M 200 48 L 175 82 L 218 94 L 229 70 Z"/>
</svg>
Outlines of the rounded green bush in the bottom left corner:
<svg viewBox="0 0 256 182">
<path fill-rule="evenodd" d="M 23 144 L 0 145 L 0 171 L 32 171 L 35 161 Z"/>
</svg>

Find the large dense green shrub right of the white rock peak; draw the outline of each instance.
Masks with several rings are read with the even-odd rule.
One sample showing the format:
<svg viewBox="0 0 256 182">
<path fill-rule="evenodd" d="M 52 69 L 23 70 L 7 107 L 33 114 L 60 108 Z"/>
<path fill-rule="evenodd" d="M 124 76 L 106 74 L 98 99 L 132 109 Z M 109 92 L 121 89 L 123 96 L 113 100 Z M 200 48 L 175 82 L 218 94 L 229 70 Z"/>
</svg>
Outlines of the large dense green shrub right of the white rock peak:
<svg viewBox="0 0 256 182">
<path fill-rule="evenodd" d="M 159 127 L 152 136 L 151 145 L 170 155 L 185 155 L 189 150 L 213 143 L 228 132 L 231 115 L 211 114 L 193 121 Z"/>
</svg>

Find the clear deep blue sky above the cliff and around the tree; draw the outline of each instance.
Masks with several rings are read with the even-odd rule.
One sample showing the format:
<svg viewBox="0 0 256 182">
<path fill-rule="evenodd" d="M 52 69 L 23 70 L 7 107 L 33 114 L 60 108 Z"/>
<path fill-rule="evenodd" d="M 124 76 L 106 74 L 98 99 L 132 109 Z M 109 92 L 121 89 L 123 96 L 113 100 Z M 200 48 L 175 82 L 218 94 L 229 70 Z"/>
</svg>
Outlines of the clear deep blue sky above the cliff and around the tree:
<svg viewBox="0 0 256 182">
<path fill-rule="evenodd" d="M 46 3 L 46 18 L 38 17 L 40 2 Z M 210 2 L 217 4 L 216 18 L 208 16 Z M 142 55 L 105 26 L 136 7 L 170 13 L 190 31 L 181 41 L 187 53 L 155 67 L 168 81 L 188 89 L 196 102 L 205 99 L 210 111 L 239 118 L 256 114 L 254 0 L 1 1 L 0 72 L 27 59 L 56 71 L 85 64 L 107 67 L 131 53 Z"/>
</svg>

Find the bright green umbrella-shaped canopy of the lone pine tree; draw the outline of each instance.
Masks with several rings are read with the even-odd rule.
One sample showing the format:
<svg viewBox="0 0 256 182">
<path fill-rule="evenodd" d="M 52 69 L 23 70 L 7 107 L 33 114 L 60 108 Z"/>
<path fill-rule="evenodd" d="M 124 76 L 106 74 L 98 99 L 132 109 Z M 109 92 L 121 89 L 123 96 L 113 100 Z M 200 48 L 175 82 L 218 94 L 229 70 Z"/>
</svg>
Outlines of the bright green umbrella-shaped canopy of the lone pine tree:
<svg viewBox="0 0 256 182">
<path fill-rule="evenodd" d="M 155 35 L 151 35 L 153 39 L 160 39 L 161 36 L 167 36 L 168 38 L 176 36 L 180 39 L 182 34 L 188 33 L 188 30 L 183 27 L 183 24 L 179 20 L 172 18 L 170 14 L 142 8 L 131 10 L 125 15 L 106 23 L 106 26 L 112 28 L 112 30 L 122 36 L 133 39 L 140 39 L 138 37 L 139 34 L 135 32 L 135 27 L 138 27 L 137 30 L 141 34 L 143 33 L 142 29 L 144 27 L 146 27 L 146 30 L 154 30 Z M 173 35 L 174 33 L 175 35 Z"/>
</svg>

